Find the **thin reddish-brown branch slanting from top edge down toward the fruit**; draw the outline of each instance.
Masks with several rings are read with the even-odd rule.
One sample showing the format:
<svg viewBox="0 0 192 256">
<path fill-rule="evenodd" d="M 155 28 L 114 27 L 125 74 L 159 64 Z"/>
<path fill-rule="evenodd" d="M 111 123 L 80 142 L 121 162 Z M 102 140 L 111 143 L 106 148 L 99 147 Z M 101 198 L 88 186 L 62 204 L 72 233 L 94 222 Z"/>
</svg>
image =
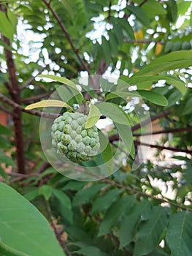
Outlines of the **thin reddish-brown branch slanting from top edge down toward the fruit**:
<svg viewBox="0 0 192 256">
<path fill-rule="evenodd" d="M 66 39 L 68 40 L 69 44 L 71 45 L 71 48 L 74 52 L 74 54 L 77 56 L 77 59 L 80 61 L 80 64 L 82 64 L 82 67 L 88 72 L 88 74 L 90 75 L 89 69 L 86 66 L 86 64 L 84 63 L 84 61 L 82 60 L 78 50 L 74 47 L 74 43 L 72 42 L 72 39 L 69 35 L 69 33 L 66 30 L 66 27 L 64 26 L 64 23 L 62 23 L 61 19 L 58 17 L 57 13 L 53 10 L 53 8 L 50 6 L 50 3 L 47 2 L 46 0 L 42 0 L 45 5 L 47 6 L 48 10 L 50 10 L 50 12 L 53 14 L 53 17 L 55 18 L 55 20 L 57 20 L 58 25 L 61 27 L 62 31 L 64 32 Z"/>
</svg>

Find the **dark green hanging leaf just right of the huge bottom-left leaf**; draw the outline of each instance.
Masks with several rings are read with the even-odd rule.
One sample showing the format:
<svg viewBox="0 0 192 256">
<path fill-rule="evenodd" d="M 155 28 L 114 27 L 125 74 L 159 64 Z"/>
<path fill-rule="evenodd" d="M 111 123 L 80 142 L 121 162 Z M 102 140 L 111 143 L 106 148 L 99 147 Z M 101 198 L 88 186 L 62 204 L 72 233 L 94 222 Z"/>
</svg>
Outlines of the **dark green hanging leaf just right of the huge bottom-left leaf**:
<svg viewBox="0 0 192 256">
<path fill-rule="evenodd" d="M 54 206 L 63 219 L 73 222 L 72 203 L 70 198 L 61 190 L 53 189 Z"/>
</svg>

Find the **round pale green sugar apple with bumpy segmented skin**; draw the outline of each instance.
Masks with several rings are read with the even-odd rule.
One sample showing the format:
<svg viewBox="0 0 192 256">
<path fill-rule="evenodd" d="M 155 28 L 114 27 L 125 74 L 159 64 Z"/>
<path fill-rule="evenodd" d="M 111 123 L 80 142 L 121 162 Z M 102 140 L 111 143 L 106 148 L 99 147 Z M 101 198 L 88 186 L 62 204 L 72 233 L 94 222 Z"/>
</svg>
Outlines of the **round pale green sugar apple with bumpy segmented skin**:
<svg viewBox="0 0 192 256">
<path fill-rule="evenodd" d="M 87 116 L 82 113 L 66 112 L 55 118 L 52 125 L 52 146 L 59 157 L 72 162 L 84 162 L 99 154 L 99 134 L 94 125 L 85 129 Z"/>
</svg>

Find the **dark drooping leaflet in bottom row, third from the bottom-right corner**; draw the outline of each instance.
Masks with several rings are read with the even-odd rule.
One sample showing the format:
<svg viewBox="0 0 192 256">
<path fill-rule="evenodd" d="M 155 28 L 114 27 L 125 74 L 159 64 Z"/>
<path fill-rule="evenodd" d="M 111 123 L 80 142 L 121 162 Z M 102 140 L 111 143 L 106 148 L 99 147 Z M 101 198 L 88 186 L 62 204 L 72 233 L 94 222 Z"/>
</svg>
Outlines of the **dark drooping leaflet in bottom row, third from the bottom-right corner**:
<svg viewBox="0 0 192 256">
<path fill-rule="evenodd" d="M 142 200 L 131 208 L 131 212 L 120 223 L 120 249 L 134 241 L 137 225 L 150 218 L 150 211 L 151 203 L 148 200 Z"/>
</svg>

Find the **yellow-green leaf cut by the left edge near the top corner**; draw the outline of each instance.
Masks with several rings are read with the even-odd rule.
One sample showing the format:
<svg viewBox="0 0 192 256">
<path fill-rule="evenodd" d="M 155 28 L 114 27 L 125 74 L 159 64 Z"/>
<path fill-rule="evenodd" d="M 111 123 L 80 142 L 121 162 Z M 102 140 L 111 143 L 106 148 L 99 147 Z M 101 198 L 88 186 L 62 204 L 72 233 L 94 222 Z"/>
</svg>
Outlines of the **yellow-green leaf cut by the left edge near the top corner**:
<svg viewBox="0 0 192 256">
<path fill-rule="evenodd" d="M 1 34 L 4 35 L 4 37 L 7 37 L 12 41 L 12 37 L 15 29 L 12 26 L 12 23 L 10 23 L 10 21 L 8 20 L 5 13 L 1 11 L 0 11 L 0 31 L 1 31 Z"/>
</svg>

